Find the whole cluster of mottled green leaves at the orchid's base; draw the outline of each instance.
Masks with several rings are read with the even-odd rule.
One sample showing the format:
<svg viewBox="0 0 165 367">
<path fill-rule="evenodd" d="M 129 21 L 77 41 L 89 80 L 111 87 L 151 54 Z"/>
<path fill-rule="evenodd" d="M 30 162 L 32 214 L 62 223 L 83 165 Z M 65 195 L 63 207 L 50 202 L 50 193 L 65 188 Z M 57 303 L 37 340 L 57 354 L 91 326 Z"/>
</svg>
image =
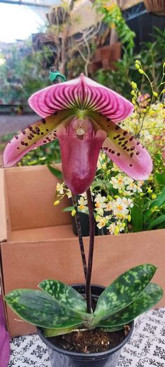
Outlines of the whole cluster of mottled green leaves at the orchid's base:
<svg viewBox="0 0 165 367">
<path fill-rule="evenodd" d="M 42 326 L 46 337 L 84 328 L 115 331 L 162 298 L 162 288 L 150 283 L 156 270 L 154 265 L 143 264 L 124 272 L 101 293 L 92 314 L 87 313 L 80 293 L 52 279 L 39 284 L 41 291 L 16 289 L 5 299 L 22 319 Z"/>
</svg>

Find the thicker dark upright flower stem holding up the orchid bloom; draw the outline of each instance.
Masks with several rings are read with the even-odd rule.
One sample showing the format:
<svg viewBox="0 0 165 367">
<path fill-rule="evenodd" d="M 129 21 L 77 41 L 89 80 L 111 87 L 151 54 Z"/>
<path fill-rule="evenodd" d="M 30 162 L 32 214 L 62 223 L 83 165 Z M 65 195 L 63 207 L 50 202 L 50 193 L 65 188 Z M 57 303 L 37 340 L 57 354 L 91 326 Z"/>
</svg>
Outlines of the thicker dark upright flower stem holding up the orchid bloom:
<svg viewBox="0 0 165 367">
<path fill-rule="evenodd" d="M 91 191 L 87 190 L 87 205 L 89 209 L 89 255 L 87 263 L 87 277 L 86 277 L 86 300 L 87 300 L 87 312 L 92 313 L 92 297 L 91 297 L 91 277 L 92 277 L 92 263 L 94 254 L 94 207 L 92 202 Z"/>
</svg>

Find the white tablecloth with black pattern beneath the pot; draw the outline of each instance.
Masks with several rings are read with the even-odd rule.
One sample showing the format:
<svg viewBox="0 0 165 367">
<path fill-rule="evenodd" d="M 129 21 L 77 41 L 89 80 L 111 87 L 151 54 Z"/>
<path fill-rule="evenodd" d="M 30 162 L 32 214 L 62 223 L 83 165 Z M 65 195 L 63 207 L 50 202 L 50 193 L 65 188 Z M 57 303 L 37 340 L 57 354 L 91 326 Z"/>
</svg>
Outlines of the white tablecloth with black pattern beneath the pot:
<svg viewBox="0 0 165 367">
<path fill-rule="evenodd" d="M 47 349 L 38 335 L 11 340 L 8 367 L 51 367 Z M 122 349 L 118 367 L 165 367 L 165 308 L 150 310 L 135 322 L 134 333 Z"/>
</svg>

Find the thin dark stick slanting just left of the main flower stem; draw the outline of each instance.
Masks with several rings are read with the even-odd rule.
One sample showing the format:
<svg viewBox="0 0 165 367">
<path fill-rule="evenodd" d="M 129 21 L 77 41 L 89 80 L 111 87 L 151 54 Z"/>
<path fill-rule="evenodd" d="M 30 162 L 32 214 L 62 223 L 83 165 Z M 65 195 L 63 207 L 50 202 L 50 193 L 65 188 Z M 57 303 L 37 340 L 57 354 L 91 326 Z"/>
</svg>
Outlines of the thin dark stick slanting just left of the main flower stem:
<svg viewBox="0 0 165 367">
<path fill-rule="evenodd" d="M 72 194 L 72 202 L 73 202 L 73 206 L 76 207 L 77 199 L 76 199 L 76 196 L 73 195 L 73 194 Z M 83 244 L 83 240 L 82 240 L 80 216 L 78 215 L 77 210 L 76 210 L 76 214 L 75 214 L 75 220 L 76 220 L 76 228 L 77 228 L 77 231 L 78 231 L 78 240 L 79 240 L 79 244 L 80 244 L 82 265 L 83 265 L 84 275 L 85 275 L 85 279 L 86 279 L 86 277 L 87 277 L 87 261 L 86 261 L 86 258 L 85 258 L 85 249 L 84 249 L 84 244 Z"/>
</svg>

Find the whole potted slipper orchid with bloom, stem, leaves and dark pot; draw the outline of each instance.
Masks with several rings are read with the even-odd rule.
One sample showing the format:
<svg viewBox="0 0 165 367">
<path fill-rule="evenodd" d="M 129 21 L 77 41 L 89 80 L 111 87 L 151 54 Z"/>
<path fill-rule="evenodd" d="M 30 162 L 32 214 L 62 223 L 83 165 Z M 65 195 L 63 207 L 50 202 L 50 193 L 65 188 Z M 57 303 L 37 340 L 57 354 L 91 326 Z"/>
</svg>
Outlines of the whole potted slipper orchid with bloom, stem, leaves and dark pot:
<svg viewBox="0 0 165 367">
<path fill-rule="evenodd" d="M 4 166 L 10 167 L 31 148 L 58 137 L 64 181 L 73 196 L 87 195 L 89 255 L 86 260 L 80 242 L 85 285 L 45 279 L 40 291 L 16 289 L 5 299 L 20 317 L 39 327 L 52 366 L 115 367 L 121 347 L 131 336 L 132 321 L 162 298 L 162 289 L 150 283 L 157 268 L 148 263 L 124 272 L 106 289 L 91 286 L 94 208 L 89 186 L 102 144 L 134 179 L 148 178 L 152 160 L 140 142 L 117 125 L 133 111 L 131 102 L 83 75 L 36 92 L 29 104 L 42 118 L 8 143 Z M 112 338 L 115 347 L 110 349 Z"/>
</svg>

